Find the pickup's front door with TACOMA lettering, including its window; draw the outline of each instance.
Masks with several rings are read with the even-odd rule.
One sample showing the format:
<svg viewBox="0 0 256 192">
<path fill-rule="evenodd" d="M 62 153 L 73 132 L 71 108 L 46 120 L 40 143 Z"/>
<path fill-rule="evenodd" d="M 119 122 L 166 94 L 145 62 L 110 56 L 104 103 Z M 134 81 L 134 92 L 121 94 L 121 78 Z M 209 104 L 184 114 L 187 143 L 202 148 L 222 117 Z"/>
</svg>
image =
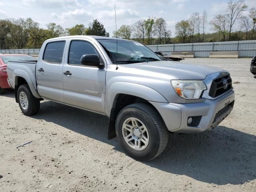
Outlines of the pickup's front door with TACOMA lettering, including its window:
<svg viewBox="0 0 256 192">
<path fill-rule="evenodd" d="M 85 38 L 70 39 L 63 66 L 64 102 L 72 106 L 104 113 L 106 63 L 98 49 Z M 86 66 L 80 63 L 84 54 L 96 54 L 104 68 Z M 70 74 L 67 74 L 70 73 Z"/>
</svg>

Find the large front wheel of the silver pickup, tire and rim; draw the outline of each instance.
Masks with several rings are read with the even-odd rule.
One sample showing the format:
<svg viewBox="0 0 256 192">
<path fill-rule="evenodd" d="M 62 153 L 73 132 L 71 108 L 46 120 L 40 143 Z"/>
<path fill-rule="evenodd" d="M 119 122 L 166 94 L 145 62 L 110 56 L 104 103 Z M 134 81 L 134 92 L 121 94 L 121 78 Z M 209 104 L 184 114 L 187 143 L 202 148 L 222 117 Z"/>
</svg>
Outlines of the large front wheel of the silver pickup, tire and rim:
<svg viewBox="0 0 256 192">
<path fill-rule="evenodd" d="M 152 106 L 142 103 L 131 104 L 119 112 L 116 135 L 127 154 L 141 161 L 156 158 L 168 143 L 168 131 L 162 117 Z"/>
</svg>

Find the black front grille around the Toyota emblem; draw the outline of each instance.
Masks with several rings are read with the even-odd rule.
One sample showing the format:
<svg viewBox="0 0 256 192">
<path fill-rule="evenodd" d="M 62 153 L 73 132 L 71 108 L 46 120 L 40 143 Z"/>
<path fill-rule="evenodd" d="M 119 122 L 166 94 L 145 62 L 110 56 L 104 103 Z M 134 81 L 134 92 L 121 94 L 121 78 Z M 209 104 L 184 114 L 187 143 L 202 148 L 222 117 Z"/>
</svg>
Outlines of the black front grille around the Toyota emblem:
<svg viewBox="0 0 256 192">
<path fill-rule="evenodd" d="M 224 79 L 226 79 L 228 82 L 227 88 L 224 87 L 224 83 L 223 83 Z M 232 79 L 230 77 L 230 74 L 228 74 L 226 76 L 222 76 L 212 81 L 212 86 L 209 91 L 209 96 L 211 96 L 212 98 L 215 98 L 224 94 L 225 92 L 228 92 L 231 89 L 232 89 Z"/>
</svg>

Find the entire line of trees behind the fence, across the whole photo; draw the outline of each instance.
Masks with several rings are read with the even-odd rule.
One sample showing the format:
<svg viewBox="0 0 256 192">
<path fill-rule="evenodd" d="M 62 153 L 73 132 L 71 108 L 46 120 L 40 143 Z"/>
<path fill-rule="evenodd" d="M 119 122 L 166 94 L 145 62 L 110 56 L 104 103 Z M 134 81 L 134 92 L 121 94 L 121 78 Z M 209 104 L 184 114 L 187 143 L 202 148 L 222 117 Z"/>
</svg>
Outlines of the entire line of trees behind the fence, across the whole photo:
<svg viewBox="0 0 256 192">
<path fill-rule="evenodd" d="M 248 9 L 249 15 L 243 15 Z M 208 25 L 213 33 L 206 33 Z M 118 30 L 113 31 L 112 37 L 136 40 L 147 45 L 254 40 L 256 8 L 248 8 L 244 0 L 229 0 L 226 12 L 215 15 L 209 22 L 206 10 L 202 14 L 194 12 L 188 20 L 177 22 L 173 38 L 167 26 L 164 18 L 151 16 L 148 19 L 138 20 L 132 25 L 122 25 Z M 110 35 L 97 19 L 87 27 L 84 24 L 77 24 L 64 29 L 55 23 L 49 23 L 46 27 L 46 29 L 40 28 L 39 23 L 31 18 L 0 20 L 0 49 L 40 48 L 46 39 L 65 35 L 107 37 Z"/>
</svg>

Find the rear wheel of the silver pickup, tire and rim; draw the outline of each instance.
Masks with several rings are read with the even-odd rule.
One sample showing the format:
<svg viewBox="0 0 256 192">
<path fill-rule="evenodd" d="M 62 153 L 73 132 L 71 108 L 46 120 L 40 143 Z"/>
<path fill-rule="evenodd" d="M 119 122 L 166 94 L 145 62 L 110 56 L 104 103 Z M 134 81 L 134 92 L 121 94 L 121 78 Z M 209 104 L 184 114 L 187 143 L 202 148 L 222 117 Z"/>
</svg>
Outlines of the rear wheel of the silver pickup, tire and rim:
<svg viewBox="0 0 256 192">
<path fill-rule="evenodd" d="M 18 88 L 18 103 L 23 114 L 31 116 L 37 114 L 40 109 L 40 100 L 35 98 L 30 91 L 28 84 L 23 84 Z M 27 102 L 22 102 L 22 100 Z M 22 105 L 26 103 L 26 105 Z"/>
</svg>

